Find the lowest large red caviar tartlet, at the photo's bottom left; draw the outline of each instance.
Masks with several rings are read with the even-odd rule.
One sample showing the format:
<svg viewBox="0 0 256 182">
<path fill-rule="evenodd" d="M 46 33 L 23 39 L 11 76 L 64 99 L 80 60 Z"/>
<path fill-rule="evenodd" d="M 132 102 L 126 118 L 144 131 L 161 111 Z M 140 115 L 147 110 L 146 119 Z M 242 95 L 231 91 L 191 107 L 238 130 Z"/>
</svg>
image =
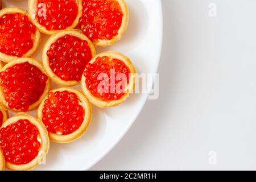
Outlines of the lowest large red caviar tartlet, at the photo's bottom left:
<svg viewBox="0 0 256 182">
<path fill-rule="evenodd" d="M 7 168 L 35 168 L 49 150 L 46 127 L 39 119 L 19 113 L 7 119 L 0 128 L 0 148 L 5 156 Z"/>
</svg>

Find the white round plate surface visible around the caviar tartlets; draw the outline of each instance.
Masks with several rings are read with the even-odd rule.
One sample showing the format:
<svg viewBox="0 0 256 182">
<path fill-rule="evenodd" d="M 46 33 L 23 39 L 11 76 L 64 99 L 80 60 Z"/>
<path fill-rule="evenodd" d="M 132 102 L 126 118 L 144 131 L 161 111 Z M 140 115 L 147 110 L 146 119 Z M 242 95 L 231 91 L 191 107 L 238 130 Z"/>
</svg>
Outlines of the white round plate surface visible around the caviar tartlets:
<svg viewBox="0 0 256 182">
<path fill-rule="evenodd" d="M 27 1 L 2 0 L 3 7 L 28 9 Z M 98 48 L 119 51 L 130 57 L 138 73 L 156 73 L 162 47 L 162 5 L 160 0 L 126 0 L 130 10 L 130 24 L 123 38 L 114 46 Z M 48 36 L 44 36 L 43 43 Z M 34 57 L 41 60 L 41 49 Z M 152 81 L 148 82 L 152 85 Z M 57 85 L 52 85 L 59 87 Z M 81 89 L 81 86 L 76 86 Z M 102 159 L 125 135 L 140 113 L 148 94 L 132 94 L 121 106 L 98 109 L 93 106 L 92 125 L 85 135 L 70 144 L 50 145 L 46 164 L 37 170 L 84 170 Z M 36 115 L 36 111 L 29 112 Z M 13 115 L 13 113 L 10 113 Z M 122 154 L 120 154 L 122 155 Z"/>
</svg>

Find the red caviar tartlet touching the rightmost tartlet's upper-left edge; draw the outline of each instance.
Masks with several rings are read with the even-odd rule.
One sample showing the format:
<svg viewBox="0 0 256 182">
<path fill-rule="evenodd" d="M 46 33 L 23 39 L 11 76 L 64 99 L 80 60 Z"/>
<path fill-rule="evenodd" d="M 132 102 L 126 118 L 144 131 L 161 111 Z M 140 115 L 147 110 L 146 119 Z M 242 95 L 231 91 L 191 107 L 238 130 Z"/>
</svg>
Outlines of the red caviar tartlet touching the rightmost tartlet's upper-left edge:
<svg viewBox="0 0 256 182">
<path fill-rule="evenodd" d="M 53 34 L 43 49 L 47 75 L 59 85 L 79 84 L 86 64 L 96 56 L 94 44 L 79 30 Z"/>
</svg>

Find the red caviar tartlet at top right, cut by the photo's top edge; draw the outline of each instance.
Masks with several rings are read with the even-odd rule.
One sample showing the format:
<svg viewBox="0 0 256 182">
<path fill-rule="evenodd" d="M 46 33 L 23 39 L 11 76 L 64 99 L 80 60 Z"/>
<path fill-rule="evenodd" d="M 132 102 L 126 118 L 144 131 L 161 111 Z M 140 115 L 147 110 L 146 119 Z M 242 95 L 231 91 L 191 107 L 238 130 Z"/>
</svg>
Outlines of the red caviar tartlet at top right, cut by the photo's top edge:
<svg viewBox="0 0 256 182">
<path fill-rule="evenodd" d="M 82 0 L 82 32 L 97 46 L 110 46 L 122 38 L 129 23 L 125 0 Z"/>
</svg>

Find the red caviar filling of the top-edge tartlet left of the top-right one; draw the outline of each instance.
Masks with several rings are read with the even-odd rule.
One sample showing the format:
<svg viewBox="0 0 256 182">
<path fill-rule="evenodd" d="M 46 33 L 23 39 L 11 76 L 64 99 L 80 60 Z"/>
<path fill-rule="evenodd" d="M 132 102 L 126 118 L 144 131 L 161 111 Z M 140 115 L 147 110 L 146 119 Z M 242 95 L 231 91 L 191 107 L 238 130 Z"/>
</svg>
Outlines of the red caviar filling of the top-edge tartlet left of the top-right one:
<svg viewBox="0 0 256 182">
<path fill-rule="evenodd" d="M 78 14 L 76 0 L 38 0 L 36 17 L 47 30 L 70 27 Z"/>
</svg>

